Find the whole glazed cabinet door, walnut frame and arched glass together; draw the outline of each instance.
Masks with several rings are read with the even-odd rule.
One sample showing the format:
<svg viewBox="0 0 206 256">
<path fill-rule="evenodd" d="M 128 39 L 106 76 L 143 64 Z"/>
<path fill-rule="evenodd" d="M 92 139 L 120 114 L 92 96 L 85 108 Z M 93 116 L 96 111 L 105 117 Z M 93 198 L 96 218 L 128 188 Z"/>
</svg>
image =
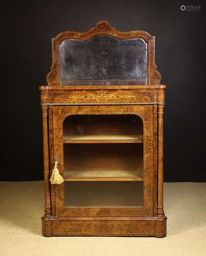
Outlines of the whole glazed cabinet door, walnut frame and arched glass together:
<svg viewBox="0 0 206 256">
<path fill-rule="evenodd" d="M 51 106 L 54 157 L 64 182 L 51 185 L 54 216 L 152 216 L 154 105 Z"/>
</svg>

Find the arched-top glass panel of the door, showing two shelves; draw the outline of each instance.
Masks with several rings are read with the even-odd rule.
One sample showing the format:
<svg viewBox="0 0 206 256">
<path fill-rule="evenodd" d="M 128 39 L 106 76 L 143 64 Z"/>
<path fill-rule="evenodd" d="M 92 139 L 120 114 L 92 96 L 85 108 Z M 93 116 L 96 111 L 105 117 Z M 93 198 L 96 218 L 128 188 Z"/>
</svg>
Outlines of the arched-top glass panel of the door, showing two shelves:
<svg viewBox="0 0 206 256">
<path fill-rule="evenodd" d="M 69 116 L 63 142 L 65 207 L 144 205 L 140 117 Z"/>
</svg>

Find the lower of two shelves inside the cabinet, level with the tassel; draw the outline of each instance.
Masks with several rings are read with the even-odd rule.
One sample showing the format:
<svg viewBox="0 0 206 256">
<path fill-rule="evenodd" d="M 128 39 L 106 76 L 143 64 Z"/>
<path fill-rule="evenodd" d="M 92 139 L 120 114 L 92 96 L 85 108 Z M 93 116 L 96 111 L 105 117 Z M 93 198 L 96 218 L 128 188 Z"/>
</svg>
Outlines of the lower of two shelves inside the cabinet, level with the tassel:
<svg viewBox="0 0 206 256">
<path fill-rule="evenodd" d="M 143 181 L 144 168 L 113 170 L 64 169 L 64 181 Z"/>
</svg>

